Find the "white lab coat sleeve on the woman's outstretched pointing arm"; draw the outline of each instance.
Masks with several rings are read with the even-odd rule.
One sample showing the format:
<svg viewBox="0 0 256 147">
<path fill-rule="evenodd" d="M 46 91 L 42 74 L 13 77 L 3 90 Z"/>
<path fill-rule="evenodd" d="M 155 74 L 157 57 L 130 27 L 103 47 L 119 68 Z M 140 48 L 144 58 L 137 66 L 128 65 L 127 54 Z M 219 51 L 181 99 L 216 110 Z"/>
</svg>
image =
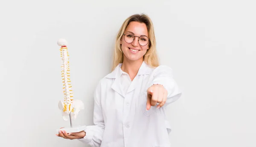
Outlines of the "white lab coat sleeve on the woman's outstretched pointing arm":
<svg viewBox="0 0 256 147">
<path fill-rule="evenodd" d="M 167 90 L 167 100 L 163 107 L 175 102 L 181 96 L 181 90 L 178 87 L 177 82 L 173 79 L 172 68 L 166 65 L 160 65 L 154 70 L 151 85 L 153 84 L 163 85 Z"/>
</svg>

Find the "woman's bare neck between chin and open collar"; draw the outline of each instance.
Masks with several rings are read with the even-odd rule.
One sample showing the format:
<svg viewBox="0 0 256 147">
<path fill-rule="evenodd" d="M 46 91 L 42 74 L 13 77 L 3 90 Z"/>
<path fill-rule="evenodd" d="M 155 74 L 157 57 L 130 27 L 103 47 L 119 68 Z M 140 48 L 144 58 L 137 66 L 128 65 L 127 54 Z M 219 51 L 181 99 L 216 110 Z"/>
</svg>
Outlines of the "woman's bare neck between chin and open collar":
<svg viewBox="0 0 256 147">
<path fill-rule="evenodd" d="M 136 60 L 136 61 L 127 61 L 124 59 L 121 69 L 122 69 L 122 71 L 129 74 L 130 79 L 132 81 L 135 78 L 135 76 L 137 75 L 142 63 L 143 63 L 143 58 Z"/>
</svg>

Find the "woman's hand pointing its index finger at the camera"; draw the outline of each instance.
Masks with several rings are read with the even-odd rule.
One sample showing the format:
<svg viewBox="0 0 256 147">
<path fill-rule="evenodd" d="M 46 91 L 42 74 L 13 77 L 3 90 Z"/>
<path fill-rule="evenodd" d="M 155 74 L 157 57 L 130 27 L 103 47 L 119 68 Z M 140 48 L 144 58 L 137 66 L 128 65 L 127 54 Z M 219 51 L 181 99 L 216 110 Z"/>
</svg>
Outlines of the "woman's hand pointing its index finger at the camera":
<svg viewBox="0 0 256 147">
<path fill-rule="evenodd" d="M 147 110 L 151 108 L 151 106 L 157 105 L 157 108 L 163 107 L 167 99 L 167 90 L 163 87 L 163 85 L 152 85 L 147 90 Z"/>
</svg>

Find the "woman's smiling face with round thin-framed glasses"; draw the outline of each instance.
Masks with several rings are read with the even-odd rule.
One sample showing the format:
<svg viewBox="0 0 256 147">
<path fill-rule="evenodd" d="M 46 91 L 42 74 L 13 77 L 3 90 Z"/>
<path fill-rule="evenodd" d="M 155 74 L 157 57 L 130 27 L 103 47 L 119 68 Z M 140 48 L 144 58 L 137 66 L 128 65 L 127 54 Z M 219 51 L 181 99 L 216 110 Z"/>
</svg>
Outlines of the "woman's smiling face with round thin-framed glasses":
<svg viewBox="0 0 256 147">
<path fill-rule="evenodd" d="M 131 22 L 125 29 L 124 34 L 126 35 L 122 35 L 120 41 L 124 61 L 143 60 L 143 56 L 149 47 L 148 29 L 145 23 Z"/>
</svg>

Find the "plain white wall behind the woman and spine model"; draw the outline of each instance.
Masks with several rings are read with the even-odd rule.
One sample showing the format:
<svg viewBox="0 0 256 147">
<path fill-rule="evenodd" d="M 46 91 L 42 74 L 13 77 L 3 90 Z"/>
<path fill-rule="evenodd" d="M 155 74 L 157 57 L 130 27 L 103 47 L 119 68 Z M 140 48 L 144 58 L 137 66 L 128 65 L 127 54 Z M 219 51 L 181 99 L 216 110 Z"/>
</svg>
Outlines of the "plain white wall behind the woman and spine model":
<svg viewBox="0 0 256 147">
<path fill-rule="evenodd" d="M 87 147 L 55 136 L 69 126 L 57 40 L 70 53 L 74 98 L 93 124 L 93 91 L 111 72 L 115 36 L 136 13 L 154 23 L 161 64 L 183 90 L 169 106 L 172 147 L 256 147 L 253 0 L 6 0 L 0 2 L 1 147 Z"/>
</svg>

